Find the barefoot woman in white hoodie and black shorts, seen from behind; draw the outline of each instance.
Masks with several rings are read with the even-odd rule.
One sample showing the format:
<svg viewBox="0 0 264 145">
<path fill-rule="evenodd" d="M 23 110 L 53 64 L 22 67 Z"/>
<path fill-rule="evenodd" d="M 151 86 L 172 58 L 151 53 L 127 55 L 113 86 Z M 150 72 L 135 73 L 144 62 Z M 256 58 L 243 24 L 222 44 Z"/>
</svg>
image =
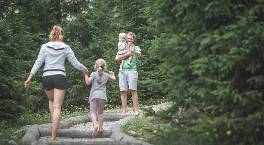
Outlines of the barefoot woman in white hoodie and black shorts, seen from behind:
<svg viewBox="0 0 264 145">
<path fill-rule="evenodd" d="M 56 132 L 60 124 L 60 110 L 65 90 L 68 88 L 64 65 L 66 57 L 76 69 L 88 72 L 87 68 L 77 60 L 69 45 L 62 42 L 63 36 L 63 29 L 60 26 L 54 25 L 49 35 L 50 42 L 41 46 L 29 78 L 25 81 L 25 88 L 27 89 L 32 77 L 39 70 L 42 63 L 45 62 L 42 85 L 49 98 L 49 109 L 52 117 L 51 140 L 58 140 Z"/>
</svg>

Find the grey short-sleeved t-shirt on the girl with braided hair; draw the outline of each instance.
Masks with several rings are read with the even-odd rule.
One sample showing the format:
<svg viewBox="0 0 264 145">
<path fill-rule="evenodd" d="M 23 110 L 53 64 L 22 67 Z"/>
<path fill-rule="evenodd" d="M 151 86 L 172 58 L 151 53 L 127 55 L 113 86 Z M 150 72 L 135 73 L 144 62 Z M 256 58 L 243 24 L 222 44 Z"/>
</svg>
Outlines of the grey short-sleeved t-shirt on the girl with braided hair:
<svg viewBox="0 0 264 145">
<path fill-rule="evenodd" d="M 105 99 L 107 103 L 107 97 L 106 97 L 106 82 L 110 79 L 110 75 L 107 74 L 106 72 L 103 72 L 101 74 L 101 82 L 97 83 L 98 79 L 98 71 L 94 71 L 91 73 L 90 77 L 93 77 L 93 82 L 92 82 L 92 88 L 90 91 L 90 96 L 89 96 L 89 101 L 90 103 L 92 99 L 98 98 L 98 99 Z"/>
</svg>

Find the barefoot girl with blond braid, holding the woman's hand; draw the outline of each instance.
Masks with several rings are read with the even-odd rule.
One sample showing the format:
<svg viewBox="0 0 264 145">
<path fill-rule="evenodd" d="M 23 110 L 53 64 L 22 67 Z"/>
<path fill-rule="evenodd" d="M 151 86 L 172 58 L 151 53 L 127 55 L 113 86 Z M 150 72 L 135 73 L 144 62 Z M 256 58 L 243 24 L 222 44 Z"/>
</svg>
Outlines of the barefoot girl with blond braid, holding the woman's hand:
<svg viewBox="0 0 264 145">
<path fill-rule="evenodd" d="M 103 133 L 103 108 L 105 107 L 105 103 L 107 103 L 106 97 L 106 82 L 107 80 L 115 81 L 115 73 L 109 71 L 110 75 L 104 72 L 106 69 L 106 62 L 103 59 L 98 59 L 95 62 L 95 70 L 91 73 L 90 77 L 88 77 L 88 72 L 83 71 L 85 82 L 87 85 L 92 83 L 92 88 L 90 91 L 89 101 L 90 103 L 90 112 L 93 123 L 93 133 L 92 136 L 95 137 L 97 134 L 97 117 L 96 117 L 96 108 L 99 122 L 99 132 Z"/>
</svg>

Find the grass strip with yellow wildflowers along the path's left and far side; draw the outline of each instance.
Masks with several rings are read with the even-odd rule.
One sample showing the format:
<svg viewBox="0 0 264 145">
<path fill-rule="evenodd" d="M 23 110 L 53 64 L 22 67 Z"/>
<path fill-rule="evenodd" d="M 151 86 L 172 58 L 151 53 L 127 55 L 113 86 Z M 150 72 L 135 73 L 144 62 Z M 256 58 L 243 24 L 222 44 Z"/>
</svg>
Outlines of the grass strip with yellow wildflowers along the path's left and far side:
<svg viewBox="0 0 264 145">
<path fill-rule="evenodd" d="M 165 100 L 155 100 L 151 99 L 151 101 L 140 103 L 139 102 L 139 107 L 144 107 L 144 106 L 151 106 L 151 105 L 157 105 L 166 102 Z M 128 108 L 133 108 L 132 103 L 128 103 L 127 105 Z M 117 110 L 121 109 L 122 106 L 120 103 L 114 104 L 113 102 L 109 102 L 108 104 L 105 105 L 104 110 Z M 89 114 L 89 108 L 88 106 L 75 106 L 73 107 L 70 105 L 68 109 L 63 109 L 61 111 L 61 117 L 76 117 L 76 116 L 81 116 L 81 115 L 86 115 Z M 21 131 L 18 133 L 15 133 L 17 130 L 19 130 L 22 126 L 26 125 L 34 125 L 34 124 L 47 124 L 51 123 L 51 115 L 49 110 L 40 110 L 36 113 L 32 114 L 24 114 L 22 116 L 16 117 L 12 120 L 0 120 L 0 140 L 2 139 L 10 139 L 12 136 L 20 136 L 22 137 L 26 131 Z M 140 119 L 139 119 L 140 120 Z M 145 134 L 145 133 L 144 133 Z M 138 137 L 136 137 L 138 138 Z M 140 139 L 140 138 L 139 138 Z M 20 139 L 15 140 L 17 144 L 19 144 Z M 8 144 L 7 141 L 0 141 L 0 144 Z"/>
</svg>

